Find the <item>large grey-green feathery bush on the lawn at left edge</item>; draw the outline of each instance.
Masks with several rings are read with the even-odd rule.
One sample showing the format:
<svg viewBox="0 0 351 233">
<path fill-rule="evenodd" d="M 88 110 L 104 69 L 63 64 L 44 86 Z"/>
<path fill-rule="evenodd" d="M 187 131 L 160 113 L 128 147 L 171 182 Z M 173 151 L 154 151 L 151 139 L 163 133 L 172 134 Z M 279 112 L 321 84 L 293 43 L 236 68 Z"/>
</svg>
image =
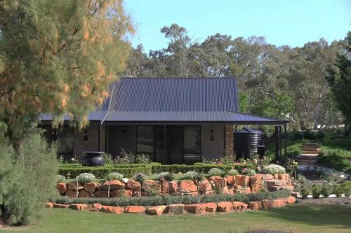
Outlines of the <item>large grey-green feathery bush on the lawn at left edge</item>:
<svg viewBox="0 0 351 233">
<path fill-rule="evenodd" d="M 10 225 L 36 220 L 44 204 L 56 194 L 58 160 L 39 134 L 29 134 L 19 153 L 0 145 L 0 213 Z"/>
</svg>

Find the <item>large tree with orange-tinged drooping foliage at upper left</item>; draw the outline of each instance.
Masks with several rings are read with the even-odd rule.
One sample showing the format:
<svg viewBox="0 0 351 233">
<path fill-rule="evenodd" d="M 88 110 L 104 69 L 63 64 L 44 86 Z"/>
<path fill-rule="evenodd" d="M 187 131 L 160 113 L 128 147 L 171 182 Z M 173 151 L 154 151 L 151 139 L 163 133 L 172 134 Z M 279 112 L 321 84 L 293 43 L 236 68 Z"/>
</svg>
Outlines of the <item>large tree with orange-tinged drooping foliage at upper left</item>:
<svg viewBox="0 0 351 233">
<path fill-rule="evenodd" d="M 84 127 L 126 66 L 122 0 L 0 1 L 0 121 L 20 141 L 40 113 Z"/>
</svg>

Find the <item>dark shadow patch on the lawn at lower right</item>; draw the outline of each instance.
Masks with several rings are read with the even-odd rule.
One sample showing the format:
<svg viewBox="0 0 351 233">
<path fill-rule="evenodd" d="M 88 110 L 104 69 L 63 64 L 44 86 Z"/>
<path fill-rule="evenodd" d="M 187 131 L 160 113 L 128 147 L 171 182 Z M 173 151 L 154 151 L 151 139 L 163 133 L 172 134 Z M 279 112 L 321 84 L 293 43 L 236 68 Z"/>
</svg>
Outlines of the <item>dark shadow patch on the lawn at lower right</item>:
<svg viewBox="0 0 351 233">
<path fill-rule="evenodd" d="M 351 229 L 351 206 L 296 204 L 254 213 L 310 226 Z"/>
</svg>

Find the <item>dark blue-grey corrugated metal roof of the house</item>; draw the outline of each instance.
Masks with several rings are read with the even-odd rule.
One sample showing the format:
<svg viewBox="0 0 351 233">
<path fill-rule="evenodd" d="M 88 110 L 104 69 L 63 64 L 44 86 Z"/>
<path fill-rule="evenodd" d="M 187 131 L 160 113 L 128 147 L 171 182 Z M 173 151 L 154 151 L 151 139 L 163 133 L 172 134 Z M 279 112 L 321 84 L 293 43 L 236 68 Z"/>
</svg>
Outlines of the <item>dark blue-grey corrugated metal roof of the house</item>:
<svg viewBox="0 0 351 233">
<path fill-rule="evenodd" d="M 121 78 L 110 86 L 110 97 L 88 119 L 115 123 L 286 124 L 284 120 L 239 113 L 236 78 Z M 51 117 L 42 115 L 41 120 Z"/>
</svg>

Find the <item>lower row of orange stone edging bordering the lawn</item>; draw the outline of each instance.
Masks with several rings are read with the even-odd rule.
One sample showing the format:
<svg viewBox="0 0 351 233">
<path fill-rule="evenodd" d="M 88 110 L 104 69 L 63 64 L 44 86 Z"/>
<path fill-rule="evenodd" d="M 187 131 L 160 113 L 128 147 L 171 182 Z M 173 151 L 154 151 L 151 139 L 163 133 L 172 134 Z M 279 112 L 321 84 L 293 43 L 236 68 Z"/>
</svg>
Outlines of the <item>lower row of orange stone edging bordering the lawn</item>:
<svg viewBox="0 0 351 233">
<path fill-rule="evenodd" d="M 161 206 L 103 206 L 100 203 L 95 204 L 54 204 L 48 202 L 48 208 L 74 209 L 77 211 L 100 211 L 103 213 L 148 213 L 150 215 L 160 216 L 164 213 L 182 214 L 182 213 L 228 213 L 242 212 L 248 209 L 257 211 L 260 209 L 270 209 L 286 206 L 296 202 L 295 197 L 279 198 L 274 200 L 262 200 L 255 202 L 208 202 L 199 204 L 170 204 Z"/>
</svg>

